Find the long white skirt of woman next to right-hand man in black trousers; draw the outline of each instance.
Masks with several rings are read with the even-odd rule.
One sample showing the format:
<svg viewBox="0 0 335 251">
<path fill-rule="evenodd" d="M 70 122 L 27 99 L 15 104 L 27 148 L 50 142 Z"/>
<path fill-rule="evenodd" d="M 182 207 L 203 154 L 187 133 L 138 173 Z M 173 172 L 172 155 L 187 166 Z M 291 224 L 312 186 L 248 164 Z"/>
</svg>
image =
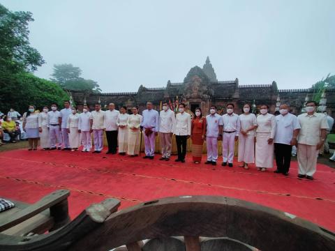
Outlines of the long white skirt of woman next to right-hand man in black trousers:
<svg viewBox="0 0 335 251">
<path fill-rule="evenodd" d="M 257 132 L 256 135 L 256 167 L 274 167 L 274 144 L 268 144 L 270 133 Z"/>
</svg>

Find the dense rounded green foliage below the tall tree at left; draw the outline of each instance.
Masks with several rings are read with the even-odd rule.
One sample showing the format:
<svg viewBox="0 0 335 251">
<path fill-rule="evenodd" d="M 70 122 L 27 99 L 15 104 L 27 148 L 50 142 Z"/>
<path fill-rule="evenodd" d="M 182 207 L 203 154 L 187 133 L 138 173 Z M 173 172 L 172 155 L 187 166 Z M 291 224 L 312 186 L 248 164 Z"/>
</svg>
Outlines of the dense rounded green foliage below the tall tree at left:
<svg viewBox="0 0 335 251">
<path fill-rule="evenodd" d="M 7 112 L 10 107 L 24 112 L 29 105 L 36 105 L 41 109 L 52 102 L 63 106 L 69 96 L 59 84 L 47 79 L 41 79 L 31 73 L 17 73 L 16 75 L 0 77 L 0 111 Z"/>
</svg>

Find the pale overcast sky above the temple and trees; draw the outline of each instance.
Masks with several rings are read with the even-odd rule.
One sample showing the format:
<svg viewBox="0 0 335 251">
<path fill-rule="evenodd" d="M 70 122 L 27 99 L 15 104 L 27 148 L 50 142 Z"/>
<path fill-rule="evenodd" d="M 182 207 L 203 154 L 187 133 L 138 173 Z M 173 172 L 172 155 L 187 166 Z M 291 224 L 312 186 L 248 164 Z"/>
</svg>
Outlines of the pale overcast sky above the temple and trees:
<svg viewBox="0 0 335 251">
<path fill-rule="evenodd" d="M 103 92 L 182 82 L 209 56 L 219 80 L 308 88 L 335 74 L 335 1 L 2 0 L 34 14 L 31 45 Z"/>
</svg>

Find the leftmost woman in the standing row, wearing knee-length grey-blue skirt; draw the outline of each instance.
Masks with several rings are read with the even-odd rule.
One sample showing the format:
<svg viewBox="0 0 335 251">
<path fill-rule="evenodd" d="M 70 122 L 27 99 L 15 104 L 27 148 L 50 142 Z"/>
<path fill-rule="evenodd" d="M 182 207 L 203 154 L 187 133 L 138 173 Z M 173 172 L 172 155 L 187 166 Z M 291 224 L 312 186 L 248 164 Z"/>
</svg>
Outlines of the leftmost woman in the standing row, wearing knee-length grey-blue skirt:
<svg viewBox="0 0 335 251">
<path fill-rule="evenodd" d="M 22 128 L 27 133 L 28 150 L 37 150 L 40 132 L 38 130 L 38 112 L 35 111 L 34 105 L 29 105 L 28 112 L 24 112 Z"/>
</svg>

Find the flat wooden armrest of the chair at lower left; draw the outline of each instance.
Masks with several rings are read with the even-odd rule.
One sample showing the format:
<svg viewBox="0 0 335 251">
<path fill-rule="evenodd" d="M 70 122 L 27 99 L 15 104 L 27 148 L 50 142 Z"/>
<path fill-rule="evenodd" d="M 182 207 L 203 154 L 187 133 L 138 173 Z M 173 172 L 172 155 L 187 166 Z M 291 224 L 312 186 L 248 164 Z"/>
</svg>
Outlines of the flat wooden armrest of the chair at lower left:
<svg viewBox="0 0 335 251">
<path fill-rule="evenodd" d="M 24 208 L 22 211 L 18 211 L 17 213 L 11 215 L 9 218 L 0 218 L 0 232 L 45 211 L 47 208 L 59 204 L 61 201 L 67 200 L 69 195 L 70 191 L 68 190 L 57 190 L 43 197 L 35 204 L 32 204 L 31 206 Z"/>
</svg>

